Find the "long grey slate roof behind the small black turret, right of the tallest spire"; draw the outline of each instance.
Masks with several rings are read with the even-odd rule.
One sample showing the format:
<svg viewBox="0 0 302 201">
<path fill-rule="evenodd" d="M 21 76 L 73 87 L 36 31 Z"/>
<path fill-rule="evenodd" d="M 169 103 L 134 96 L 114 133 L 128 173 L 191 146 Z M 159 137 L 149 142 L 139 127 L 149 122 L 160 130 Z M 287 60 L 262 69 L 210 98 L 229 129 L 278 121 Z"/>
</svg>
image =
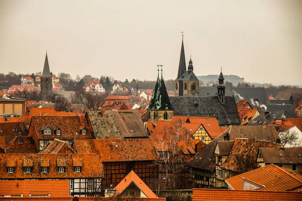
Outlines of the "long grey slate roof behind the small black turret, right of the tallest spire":
<svg viewBox="0 0 302 201">
<path fill-rule="evenodd" d="M 217 95 L 217 88 L 199 87 L 199 95 L 215 96 Z M 241 100 L 240 96 L 242 96 L 243 99 L 245 99 L 249 103 L 251 103 L 251 98 L 253 100 L 259 99 L 259 104 L 266 104 L 268 102 L 268 97 L 266 95 L 265 89 L 260 87 L 226 87 L 225 95 L 226 96 L 234 95 L 236 103 L 239 102 L 239 100 Z"/>
</svg>

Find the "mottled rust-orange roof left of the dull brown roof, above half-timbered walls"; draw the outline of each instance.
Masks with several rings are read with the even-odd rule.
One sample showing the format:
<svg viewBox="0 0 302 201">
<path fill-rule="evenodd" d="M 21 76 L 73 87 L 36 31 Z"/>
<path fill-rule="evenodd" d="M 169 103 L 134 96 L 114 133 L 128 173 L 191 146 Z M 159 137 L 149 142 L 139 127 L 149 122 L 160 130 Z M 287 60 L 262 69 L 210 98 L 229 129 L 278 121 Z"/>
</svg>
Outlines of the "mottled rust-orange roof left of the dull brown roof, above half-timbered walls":
<svg viewBox="0 0 302 201">
<path fill-rule="evenodd" d="M 238 169 L 239 167 L 238 167 L 238 162 L 236 160 L 236 155 L 240 154 L 243 155 L 244 157 L 251 157 L 254 159 L 256 163 L 258 149 L 260 147 L 279 148 L 280 144 L 270 141 L 256 140 L 256 138 L 252 138 L 252 139 L 236 138 L 232 150 L 230 152 L 230 155 L 228 156 L 228 158 L 225 159 L 224 163 L 220 167 L 239 172 L 240 170 Z"/>
</svg>

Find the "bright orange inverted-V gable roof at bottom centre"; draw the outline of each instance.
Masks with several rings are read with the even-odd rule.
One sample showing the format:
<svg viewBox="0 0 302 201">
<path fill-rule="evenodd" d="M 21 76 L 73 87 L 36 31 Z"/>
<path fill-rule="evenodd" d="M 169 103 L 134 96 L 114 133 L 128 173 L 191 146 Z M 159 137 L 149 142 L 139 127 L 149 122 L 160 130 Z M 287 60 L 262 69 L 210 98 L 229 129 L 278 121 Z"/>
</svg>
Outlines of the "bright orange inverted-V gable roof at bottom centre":
<svg viewBox="0 0 302 201">
<path fill-rule="evenodd" d="M 146 197 L 157 198 L 156 194 L 131 170 L 127 176 L 114 188 L 116 194 L 121 194 L 130 184 L 135 184 Z"/>
</svg>

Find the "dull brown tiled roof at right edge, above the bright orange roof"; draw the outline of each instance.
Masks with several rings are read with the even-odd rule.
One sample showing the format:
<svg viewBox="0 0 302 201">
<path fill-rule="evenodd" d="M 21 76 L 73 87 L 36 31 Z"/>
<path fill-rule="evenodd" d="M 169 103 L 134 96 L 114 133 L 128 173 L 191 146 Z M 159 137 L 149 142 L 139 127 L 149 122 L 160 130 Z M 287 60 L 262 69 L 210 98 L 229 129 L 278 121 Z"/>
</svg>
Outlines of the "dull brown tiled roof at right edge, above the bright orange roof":
<svg viewBox="0 0 302 201">
<path fill-rule="evenodd" d="M 302 164 L 302 147 L 260 148 L 265 163 Z"/>
</svg>

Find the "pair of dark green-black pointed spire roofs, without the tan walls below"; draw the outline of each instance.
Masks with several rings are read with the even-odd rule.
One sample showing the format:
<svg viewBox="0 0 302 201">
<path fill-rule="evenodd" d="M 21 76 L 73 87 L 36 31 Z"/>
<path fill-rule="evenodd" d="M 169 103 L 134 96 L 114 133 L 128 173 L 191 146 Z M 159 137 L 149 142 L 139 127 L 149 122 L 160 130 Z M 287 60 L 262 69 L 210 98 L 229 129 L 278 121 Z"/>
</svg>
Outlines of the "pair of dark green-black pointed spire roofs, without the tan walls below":
<svg viewBox="0 0 302 201">
<path fill-rule="evenodd" d="M 148 109 L 149 110 L 173 110 L 173 107 L 170 103 L 170 98 L 167 92 L 167 88 L 165 85 L 165 81 L 163 78 L 163 70 L 162 70 L 162 77 L 158 90 L 157 91 L 154 90 Z"/>
</svg>

